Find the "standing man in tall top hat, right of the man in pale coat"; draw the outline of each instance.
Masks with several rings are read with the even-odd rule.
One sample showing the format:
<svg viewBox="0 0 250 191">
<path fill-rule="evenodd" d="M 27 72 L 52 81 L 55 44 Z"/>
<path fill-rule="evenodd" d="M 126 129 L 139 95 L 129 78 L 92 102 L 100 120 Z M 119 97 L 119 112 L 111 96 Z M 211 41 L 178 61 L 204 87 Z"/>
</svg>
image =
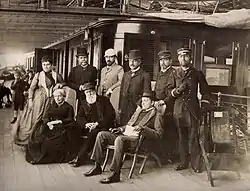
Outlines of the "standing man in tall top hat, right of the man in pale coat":
<svg viewBox="0 0 250 191">
<path fill-rule="evenodd" d="M 136 110 L 137 101 L 142 93 L 151 92 L 151 80 L 147 72 L 141 68 L 142 59 L 140 50 L 129 51 L 130 71 L 122 78 L 119 113 L 120 124 L 126 125 Z"/>
</svg>

